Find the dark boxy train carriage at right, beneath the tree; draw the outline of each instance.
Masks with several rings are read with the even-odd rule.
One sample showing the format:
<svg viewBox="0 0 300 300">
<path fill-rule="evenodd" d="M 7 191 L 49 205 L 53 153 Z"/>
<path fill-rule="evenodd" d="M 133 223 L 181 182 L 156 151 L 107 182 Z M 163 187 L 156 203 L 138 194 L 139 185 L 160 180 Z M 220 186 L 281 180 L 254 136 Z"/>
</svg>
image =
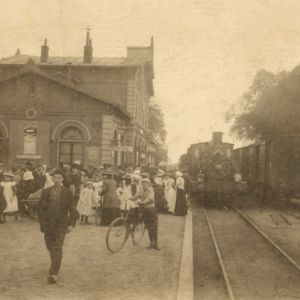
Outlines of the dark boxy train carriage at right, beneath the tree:
<svg viewBox="0 0 300 300">
<path fill-rule="evenodd" d="M 234 157 L 250 190 L 286 200 L 299 196 L 300 135 L 278 136 L 235 149 Z"/>
</svg>

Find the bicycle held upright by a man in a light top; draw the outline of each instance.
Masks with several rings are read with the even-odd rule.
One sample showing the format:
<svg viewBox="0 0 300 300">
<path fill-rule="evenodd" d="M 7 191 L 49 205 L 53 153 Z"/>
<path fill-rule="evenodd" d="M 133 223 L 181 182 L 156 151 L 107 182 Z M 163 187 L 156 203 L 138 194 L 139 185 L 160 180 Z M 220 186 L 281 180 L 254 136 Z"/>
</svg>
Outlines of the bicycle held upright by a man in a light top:
<svg viewBox="0 0 300 300">
<path fill-rule="evenodd" d="M 108 228 L 106 234 L 106 247 L 111 253 L 120 251 L 129 236 L 131 235 L 133 245 L 137 246 L 142 241 L 145 233 L 145 223 L 141 208 L 138 209 L 136 222 L 131 222 L 130 212 L 132 209 L 126 210 L 125 214 L 115 219 Z"/>
</svg>

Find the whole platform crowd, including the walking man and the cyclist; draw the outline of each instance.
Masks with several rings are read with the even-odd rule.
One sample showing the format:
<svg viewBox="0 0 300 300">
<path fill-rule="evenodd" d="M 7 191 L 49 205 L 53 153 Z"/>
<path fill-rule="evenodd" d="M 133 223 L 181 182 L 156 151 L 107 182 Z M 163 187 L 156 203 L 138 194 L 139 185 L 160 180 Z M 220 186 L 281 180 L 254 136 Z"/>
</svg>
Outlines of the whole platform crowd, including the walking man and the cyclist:
<svg viewBox="0 0 300 300">
<path fill-rule="evenodd" d="M 188 209 L 188 180 L 180 171 L 172 175 L 160 169 L 85 170 L 78 165 L 66 165 L 52 170 L 45 165 L 33 168 L 27 163 L 24 168 L 0 174 L 0 220 L 3 223 L 3 216 L 19 211 L 26 216 L 26 203 L 35 201 L 51 260 L 47 281 L 55 284 L 65 235 L 78 219 L 82 225 L 91 224 L 90 217 L 98 215 L 100 225 L 108 226 L 128 211 L 134 227 L 141 208 L 150 241 L 147 248 L 160 250 L 157 213 L 184 216 Z"/>
</svg>

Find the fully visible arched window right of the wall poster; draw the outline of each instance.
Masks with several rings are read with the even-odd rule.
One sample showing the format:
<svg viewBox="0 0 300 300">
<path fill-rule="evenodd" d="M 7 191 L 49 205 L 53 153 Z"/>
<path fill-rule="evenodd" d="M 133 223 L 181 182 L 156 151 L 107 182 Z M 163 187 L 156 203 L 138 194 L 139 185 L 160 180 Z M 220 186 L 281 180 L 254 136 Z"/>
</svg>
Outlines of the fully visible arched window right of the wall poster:
<svg viewBox="0 0 300 300">
<path fill-rule="evenodd" d="M 83 165 L 84 142 L 84 135 L 79 128 L 65 128 L 59 138 L 59 163 Z"/>
</svg>

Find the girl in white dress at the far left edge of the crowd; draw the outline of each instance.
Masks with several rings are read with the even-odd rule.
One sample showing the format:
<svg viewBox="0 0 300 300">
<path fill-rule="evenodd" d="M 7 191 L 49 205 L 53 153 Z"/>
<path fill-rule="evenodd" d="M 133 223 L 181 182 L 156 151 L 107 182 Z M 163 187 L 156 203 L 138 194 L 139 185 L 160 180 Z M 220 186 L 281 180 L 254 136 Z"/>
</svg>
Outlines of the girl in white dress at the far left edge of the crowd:
<svg viewBox="0 0 300 300">
<path fill-rule="evenodd" d="M 18 211 L 18 199 L 16 196 L 16 182 L 12 181 L 14 174 L 5 172 L 3 174 L 3 180 L 0 183 L 4 199 L 6 201 L 6 208 L 4 213 L 13 213 Z"/>
</svg>

